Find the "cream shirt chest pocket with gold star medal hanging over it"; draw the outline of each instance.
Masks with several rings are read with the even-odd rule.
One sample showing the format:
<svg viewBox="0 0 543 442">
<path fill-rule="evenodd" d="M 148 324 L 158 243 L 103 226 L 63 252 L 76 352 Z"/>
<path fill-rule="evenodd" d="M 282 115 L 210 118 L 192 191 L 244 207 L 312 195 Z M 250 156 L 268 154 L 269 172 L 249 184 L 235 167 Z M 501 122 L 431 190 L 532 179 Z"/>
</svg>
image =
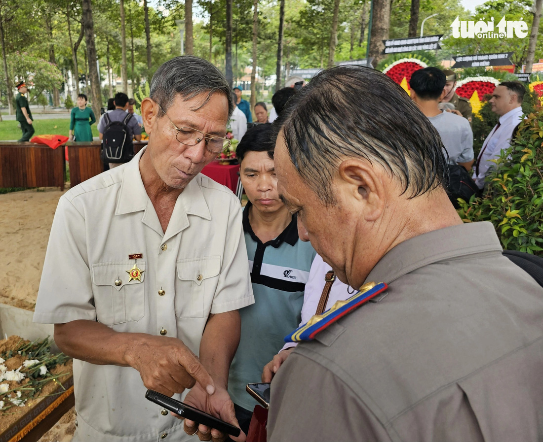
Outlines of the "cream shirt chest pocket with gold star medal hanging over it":
<svg viewBox="0 0 543 442">
<path fill-rule="evenodd" d="M 136 266 L 134 261 L 100 262 L 91 268 L 98 322 L 139 321 L 145 312 L 145 262 L 138 260 Z"/>
</svg>

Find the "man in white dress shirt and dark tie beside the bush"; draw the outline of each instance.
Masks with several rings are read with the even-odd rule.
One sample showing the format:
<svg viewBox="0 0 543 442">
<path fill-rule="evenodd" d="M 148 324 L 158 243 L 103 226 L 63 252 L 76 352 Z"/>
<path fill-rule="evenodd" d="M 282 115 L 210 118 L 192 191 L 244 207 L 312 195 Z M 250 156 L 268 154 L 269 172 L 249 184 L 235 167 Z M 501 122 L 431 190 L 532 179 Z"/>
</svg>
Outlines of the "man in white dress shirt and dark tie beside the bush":
<svg viewBox="0 0 543 442">
<path fill-rule="evenodd" d="M 500 116 L 498 124 L 484 140 L 481 152 L 475 162 L 473 180 L 483 189 L 485 176 L 494 165 L 490 160 L 500 156 L 509 147 L 513 131 L 522 121 L 522 99 L 526 89 L 520 81 L 504 81 L 496 86 L 490 99 L 493 112 Z"/>
</svg>

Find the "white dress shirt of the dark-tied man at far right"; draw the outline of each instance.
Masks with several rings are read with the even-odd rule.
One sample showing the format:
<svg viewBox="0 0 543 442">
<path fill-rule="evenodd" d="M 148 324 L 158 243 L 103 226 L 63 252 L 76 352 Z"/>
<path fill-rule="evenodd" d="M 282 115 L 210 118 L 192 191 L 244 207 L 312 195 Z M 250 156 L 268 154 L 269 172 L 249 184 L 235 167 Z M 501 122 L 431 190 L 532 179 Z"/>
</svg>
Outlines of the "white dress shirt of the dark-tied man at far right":
<svg viewBox="0 0 543 442">
<path fill-rule="evenodd" d="M 490 160 L 499 157 L 500 152 L 509 147 L 513 130 L 522 121 L 522 114 L 521 106 L 515 107 L 513 110 L 503 114 L 500 117 L 500 127 L 496 129 L 497 125 L 494 126 L 494 129 L 484 140 L 481 152 L 479 152 L 479 156 L 477 157 L 477 161 L 481 157 L 479 175 L 477 175 L 475 165 L 473 166 L 473 180 L 479 189 L 484 187 L 484 177 L 487 175 L 488 169 L 494 166 L 494 163 Z"/>
</svg>

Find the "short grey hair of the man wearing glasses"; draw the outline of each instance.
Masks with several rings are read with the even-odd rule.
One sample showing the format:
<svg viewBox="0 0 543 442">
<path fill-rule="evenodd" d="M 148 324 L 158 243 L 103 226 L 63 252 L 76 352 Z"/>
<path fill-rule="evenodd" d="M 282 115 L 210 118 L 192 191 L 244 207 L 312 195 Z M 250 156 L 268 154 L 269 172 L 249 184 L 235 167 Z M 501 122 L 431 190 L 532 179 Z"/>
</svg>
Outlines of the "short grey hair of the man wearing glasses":
<svg viewBox="0 0 543 442">
<path fill-rule="evenodd" d="M 207 94 L 200 107 L 205 106 L 214 93 L 224 94 L 228 100 L 228 118 L 234 110 L 232 92 L 222 72 L 209 61 L 193 55 L 182 55 L 163 63 L 151 79 L 149 97 L 164 111 L 172 105 L 176 95 L 186 101 Z M 159 109 L 159 117 L 162 111 Z"/>
</svg>

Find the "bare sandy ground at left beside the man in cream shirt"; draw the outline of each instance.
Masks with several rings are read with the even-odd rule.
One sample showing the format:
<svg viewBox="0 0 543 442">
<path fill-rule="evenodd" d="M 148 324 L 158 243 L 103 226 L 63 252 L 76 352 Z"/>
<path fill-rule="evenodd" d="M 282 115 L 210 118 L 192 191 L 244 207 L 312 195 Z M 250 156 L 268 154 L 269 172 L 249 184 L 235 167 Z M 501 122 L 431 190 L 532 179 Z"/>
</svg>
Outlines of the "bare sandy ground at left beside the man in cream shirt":
<svg viewBox="0 0 543 442">
<path fill-rule="evenodd" d="M 34 310 L 49 230 L 61 195 L 59 188 L 0 195 L 0 303 Z M 72 408 L 40 441 L 72 440 L 74 421 Z"/>
</svg>

